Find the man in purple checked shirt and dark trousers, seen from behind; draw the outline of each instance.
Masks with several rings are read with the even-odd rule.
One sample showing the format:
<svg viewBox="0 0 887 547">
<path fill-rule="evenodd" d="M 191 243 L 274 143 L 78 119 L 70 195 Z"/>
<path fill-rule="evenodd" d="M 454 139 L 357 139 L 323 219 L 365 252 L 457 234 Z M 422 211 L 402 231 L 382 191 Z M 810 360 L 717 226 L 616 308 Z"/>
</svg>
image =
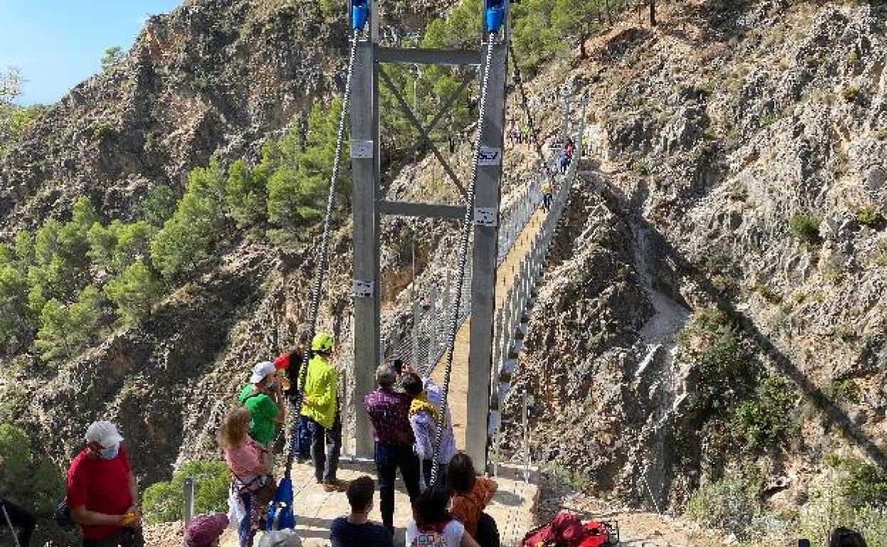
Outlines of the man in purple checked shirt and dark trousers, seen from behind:
<svg viewBox="0 0 887 547">
<path fill-rule="evenodd" d="M 419 458 L 412 453 L 412 428 L 409 418 L 412 398 L 396 393 L 397 371 L 385 363 L 376 369 L 378 389 L 364 397 L 366 412 L 373 422 L 374 459 L 379 475 L 382 524 L 394 533 L 394 482 L 397 469 L 404 479 L 410 503 L 420 494 Z"/>
</svg>

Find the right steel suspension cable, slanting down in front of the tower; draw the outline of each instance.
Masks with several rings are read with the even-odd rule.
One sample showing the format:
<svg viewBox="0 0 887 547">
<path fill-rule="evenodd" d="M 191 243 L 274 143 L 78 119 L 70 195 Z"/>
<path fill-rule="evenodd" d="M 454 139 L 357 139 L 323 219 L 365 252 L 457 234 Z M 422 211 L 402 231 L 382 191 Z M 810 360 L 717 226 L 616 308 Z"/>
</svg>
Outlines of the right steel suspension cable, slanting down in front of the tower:
<svg viewBox="0 0 887 547">
<path fill-rule="evenodd" d="M 456 279 L 456 294 L 452 302 L 452 321 L 450 324 L 449 339 L 447 340 L 447 358 L 446 368 L 443 371 L 443 386 L 441 395 L 441 406 L 437 414 L 437 431 L 435 435 L 434 447 L 431 451 L 431 484 L 429 488 L 434 488 L 437 482 L 437 458 L 440 456 L 441 443 L 443 442 L 443 429 L 447 426 L 447 397 L 450 394 L 450 377 L 452 375 L 452 358 L 456 346 L 456 332 L 459 331 L 459 307 L 462 300 L 462 285 L 465 283 L 465 266 L 468 255 L 468 242 L 471 238 L 473 227 L 472 217 L 475 210 L 475 185 L 477 184 L 477 167 L 480 159 L 481 140 L 483 137 L 483 118 L 486 114 L 487 105 L 487 87 L 490 82 L 490 64 L 493 56 L 494 38 L 496 33 L 491 32 L 487 35 L 487 55 L 486 62 L 483 64 L 483 80 L 481 83 L 481 98 L 477 113 L 477 140 L 475 141 L 475 151 L 471 168 L 471 183 L 467 188 L 467 205 L 465 207 L 465 221 L 462 224 L 461 242 L 459 246 L 459 268 Z"/>
</svg>

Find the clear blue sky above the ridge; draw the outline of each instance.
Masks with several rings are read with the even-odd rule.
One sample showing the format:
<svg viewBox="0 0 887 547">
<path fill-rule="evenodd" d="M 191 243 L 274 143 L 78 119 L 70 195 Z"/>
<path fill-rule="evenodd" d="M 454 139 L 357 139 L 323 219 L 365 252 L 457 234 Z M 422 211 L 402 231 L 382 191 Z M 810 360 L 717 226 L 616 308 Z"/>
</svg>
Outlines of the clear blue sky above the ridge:
<svg viewBox="0 0 887 547">
<path fill-rule="evenodd" d="M 21 105 L 54 103 L 96 74 L 106 48 L 130 49 L 148 15 L 181 0 L 0 0 L 0 68 L 27 80 Z"/>
</svg>

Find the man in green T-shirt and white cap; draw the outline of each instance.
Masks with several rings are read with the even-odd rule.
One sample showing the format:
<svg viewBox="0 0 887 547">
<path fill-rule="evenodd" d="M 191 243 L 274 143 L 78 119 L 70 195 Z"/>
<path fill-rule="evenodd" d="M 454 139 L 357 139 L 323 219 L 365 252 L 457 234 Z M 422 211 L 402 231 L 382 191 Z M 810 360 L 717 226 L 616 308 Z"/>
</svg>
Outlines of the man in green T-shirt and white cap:
<svg viewBox="0 0 887 547">
<path fill-rule="evenodd" d="M 257 363 L 249 383 L 240 390 L 238 397 L 243 406 L 249 409 L 249 436 L 265 449 L 264 463 L 273 469 L 271 442 L 274 440 L 274 427 L 287 418 L 280 384 L 274 380 L 277 369 L 271 361 Z"/>
</svg>

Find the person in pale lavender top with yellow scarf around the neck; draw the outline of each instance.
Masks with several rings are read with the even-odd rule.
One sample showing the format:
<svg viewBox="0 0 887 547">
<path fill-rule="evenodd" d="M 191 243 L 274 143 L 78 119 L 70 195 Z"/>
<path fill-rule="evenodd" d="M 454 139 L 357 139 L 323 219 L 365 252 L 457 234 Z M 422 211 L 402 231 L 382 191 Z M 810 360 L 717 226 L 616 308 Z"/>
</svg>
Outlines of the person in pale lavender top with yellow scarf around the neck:
<svg viewBox="0 0 887 547">
<path fill-rule="evenodd" d="M 437 420 L 440 415 L 440 406 L 443 399 L 441 388 L 428 377 L 420 378 L 415 372 L 404 373 L 401 379 L 406 395 L 412 397 L 410 402 L 410 426 L 412 434 L 416 438 L 416 455 L 422 460 L 422 476 L 425 479 L 425 487 L 431 485 L 431 472 L 433 469 L 432 457 L 437 438 Z M 446 466 L 450 464 L 453 455 L 456 454 L 456 437 L 452 434 L 452 418 L 450 409 L 447 409 L 443 418 L 443 439 L 441 440 L 440 453 L 437 454 L 437 489 L 446 489 Z"/>
</svg>

